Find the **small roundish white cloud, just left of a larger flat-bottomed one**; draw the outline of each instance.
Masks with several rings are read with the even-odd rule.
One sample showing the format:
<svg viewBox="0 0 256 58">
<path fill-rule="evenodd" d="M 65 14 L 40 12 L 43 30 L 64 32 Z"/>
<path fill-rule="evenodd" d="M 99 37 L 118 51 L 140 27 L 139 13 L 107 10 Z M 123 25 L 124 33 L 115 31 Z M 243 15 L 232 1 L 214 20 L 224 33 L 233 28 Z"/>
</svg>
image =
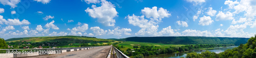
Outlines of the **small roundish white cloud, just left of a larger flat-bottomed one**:
<svg viewBox="0 0 256 58">
<path fill-rule="evenodd" d="M 200 18 L 199 23 L 200 25 L 210 25 L 214 20 L 211 20 L 210 16 L 203 16 Z"/>
</svg>

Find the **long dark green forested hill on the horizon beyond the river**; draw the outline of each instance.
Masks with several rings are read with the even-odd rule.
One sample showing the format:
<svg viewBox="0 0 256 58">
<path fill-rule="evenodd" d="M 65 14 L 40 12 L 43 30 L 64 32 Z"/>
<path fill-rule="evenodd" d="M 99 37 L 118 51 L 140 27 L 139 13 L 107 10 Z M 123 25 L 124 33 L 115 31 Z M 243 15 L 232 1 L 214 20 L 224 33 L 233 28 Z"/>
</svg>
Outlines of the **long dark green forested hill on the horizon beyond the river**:
<svg viewBox="0 0 256 58">
<path fill-rule="evenodd" d="M 246 43 L 249 38 L 227 37 L 129 37 L 122 40 L 162 44 L 236 44 Z M 121 40 L 121 39 L 119 39 Z"/>
</svg>

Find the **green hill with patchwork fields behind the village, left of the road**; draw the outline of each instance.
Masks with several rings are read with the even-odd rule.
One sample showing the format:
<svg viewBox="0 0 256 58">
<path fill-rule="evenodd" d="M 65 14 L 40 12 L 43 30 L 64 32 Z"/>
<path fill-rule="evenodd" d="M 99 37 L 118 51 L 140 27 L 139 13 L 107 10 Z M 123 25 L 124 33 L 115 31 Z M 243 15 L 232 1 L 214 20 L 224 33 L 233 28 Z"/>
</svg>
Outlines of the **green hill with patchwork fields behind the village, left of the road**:
<svg viewBox="0 0 256 58">
<path fill-rule="evenodd" d="M 55 37 L 26 37 L 11 38 L 5 40 L 8 45 L 26 46 L 30 43 L 32 47 L 36 46 L 61 46 L 61 47 L 78 47 L 81 44 L 88 46 L 99 46 L 116 43 L 118 41 L 110 39 L 98 39 L 86 36 L 55 36 Z M 23 45 L 24 44 L 24 45 Z"/>
</svg>

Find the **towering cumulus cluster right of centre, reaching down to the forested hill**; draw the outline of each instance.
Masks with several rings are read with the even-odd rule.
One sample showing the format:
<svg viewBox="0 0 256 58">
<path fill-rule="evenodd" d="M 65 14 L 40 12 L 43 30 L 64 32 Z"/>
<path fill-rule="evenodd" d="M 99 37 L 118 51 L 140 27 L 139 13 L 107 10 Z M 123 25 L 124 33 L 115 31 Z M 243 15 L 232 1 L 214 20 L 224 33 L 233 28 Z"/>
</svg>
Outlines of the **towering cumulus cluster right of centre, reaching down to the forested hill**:
<svg viewBox="0 0 256 58">
<path fill-rule="evenodd" d="M 153 36 L 161 36 L 158 31 L 158 25 L 159 22 L 161 22 L 161 19 L 164 17 L 171 16 L 169 11 L 163 8 L 159 8 L 157 10 L 157 7 L 153 8 L 144 8 L 141 10 L 142 16 L 136 16 L 136 15 L 128 15 L 126 18 L 128 19 L 130 24 L 133 24 L 134 26 L 139 26 L 141 30 L 139 32 L 135 33 L 135 35 L 153 35 Z M 146 16 L 145 19 L 144 16 Z"/>
</svg>

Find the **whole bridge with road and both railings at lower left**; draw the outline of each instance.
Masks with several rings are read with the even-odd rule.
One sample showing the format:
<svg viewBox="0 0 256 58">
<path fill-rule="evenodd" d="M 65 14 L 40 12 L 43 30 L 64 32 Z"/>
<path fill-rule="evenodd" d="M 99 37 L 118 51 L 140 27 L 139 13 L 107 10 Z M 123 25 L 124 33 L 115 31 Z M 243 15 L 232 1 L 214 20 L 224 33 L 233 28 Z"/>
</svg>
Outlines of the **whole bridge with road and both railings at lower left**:
<svg viewBox="0 0 256 58">
<path fill-rule="evenodd" d="M 0 58 L 26 57 L 26 58 L 129 58 L 116 47 L 91 46 L 71 48 L 41 48 L 41 49 L 0 49 Z"/>
</svg>

